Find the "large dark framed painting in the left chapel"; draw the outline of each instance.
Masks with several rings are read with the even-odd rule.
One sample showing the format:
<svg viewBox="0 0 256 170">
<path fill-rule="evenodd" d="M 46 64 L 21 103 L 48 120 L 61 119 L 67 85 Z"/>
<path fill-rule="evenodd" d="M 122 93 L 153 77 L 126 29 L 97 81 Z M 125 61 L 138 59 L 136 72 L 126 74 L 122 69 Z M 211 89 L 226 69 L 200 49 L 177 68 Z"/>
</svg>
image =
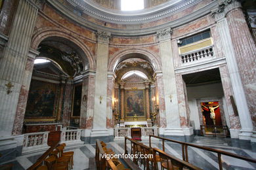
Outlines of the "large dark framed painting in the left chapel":
<svg viewBox="0 0 256 170">
<path fill-rule="evenodd" d="M 52 118 L 56 105 L 56 86 L 51 82 L 33 80 L 28 94 L 26 118 Z"/>
</svg>

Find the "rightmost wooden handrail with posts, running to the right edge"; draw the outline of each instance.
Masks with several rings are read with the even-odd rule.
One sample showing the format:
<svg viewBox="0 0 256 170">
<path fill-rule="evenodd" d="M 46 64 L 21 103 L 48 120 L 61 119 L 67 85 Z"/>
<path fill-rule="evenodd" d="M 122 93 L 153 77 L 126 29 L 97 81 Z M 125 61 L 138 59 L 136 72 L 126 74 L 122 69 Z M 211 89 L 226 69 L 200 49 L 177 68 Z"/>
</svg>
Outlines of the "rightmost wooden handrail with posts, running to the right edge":
<svg viewBox="0 0 256 170">
<path fill-rule="evenodd" d="M 150 148 L 152 148 L 151 147 L 151 137 L 162 139 L 163 151 L 165 150 L 164 141 L 170 141 L 170 142 L 173 142 L 173 143 L 181 144 L 182 145 L 182 158 L 183 158 L 184 161 L 187 161 L 187 162 L 188 162 L 188 146 L 192 146 L 194 148 L 200 148 L 200 149 L 203 149 L 203 150 L 208 150 L 208 151 L 217 153 L 218 154 L 218 161 L 219 161 L 219 169 L 221 169 L 221 170 L 223 169 L 222 162 L 221 162 L 221 154 L 226 155 L 226 156 L 230 156 L 230 157 L 233 157 L 233 158 L 238 158 L 240 160 L 245 160 L 245 161 L 250 161 L 250 162 L 256 163 L 256 160 L 253 159 L 253 158 L 246 158 L 244 156 L 240 156 L 240 155 L 237 155 L 237 154 L 232 154 L 230 152 L 226 152 L 226 151 L 223 151 L 223 150 L 217 150 L 217 149 L 214 149 L 214 148 L 199 146 L 199 145 L 192 144 L 192 143 L 185 143 L 185 142 L 181 142 L 181 141 L 175 141 L 173 139 L 167 139 L 167 138 L 158 137 L 158 136 L 155 136 L 155 135 L 149 135 Z"/>
</svg>

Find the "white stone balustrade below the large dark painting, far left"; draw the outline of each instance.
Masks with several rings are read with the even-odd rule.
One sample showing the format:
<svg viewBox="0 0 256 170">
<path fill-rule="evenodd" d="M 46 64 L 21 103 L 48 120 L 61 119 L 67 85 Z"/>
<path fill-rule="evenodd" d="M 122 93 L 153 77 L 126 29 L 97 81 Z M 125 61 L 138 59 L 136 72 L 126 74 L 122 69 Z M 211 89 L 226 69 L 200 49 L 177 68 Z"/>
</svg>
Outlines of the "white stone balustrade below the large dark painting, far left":
<svg viewBox="0 0 256 170">
<path fill-rule="evenodd" d="M 37 133 L 25 133 L 22 147 L 22 153 L 38 152 L 48 149 L 47 144 L 49 131 Z"/>
</svg>

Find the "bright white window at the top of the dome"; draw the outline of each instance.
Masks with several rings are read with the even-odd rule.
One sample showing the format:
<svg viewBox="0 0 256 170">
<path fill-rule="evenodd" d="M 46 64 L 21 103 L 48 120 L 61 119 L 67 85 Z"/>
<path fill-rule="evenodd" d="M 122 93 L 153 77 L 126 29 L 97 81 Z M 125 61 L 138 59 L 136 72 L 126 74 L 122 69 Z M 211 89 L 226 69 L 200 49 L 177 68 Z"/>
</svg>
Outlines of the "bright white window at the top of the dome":
<svg viewBox="0 0 256 170">
<path fill-rule="evenodd" d="M 144 0 L 121 0 L 121 10 L 144 9 Z"/>
</svg>

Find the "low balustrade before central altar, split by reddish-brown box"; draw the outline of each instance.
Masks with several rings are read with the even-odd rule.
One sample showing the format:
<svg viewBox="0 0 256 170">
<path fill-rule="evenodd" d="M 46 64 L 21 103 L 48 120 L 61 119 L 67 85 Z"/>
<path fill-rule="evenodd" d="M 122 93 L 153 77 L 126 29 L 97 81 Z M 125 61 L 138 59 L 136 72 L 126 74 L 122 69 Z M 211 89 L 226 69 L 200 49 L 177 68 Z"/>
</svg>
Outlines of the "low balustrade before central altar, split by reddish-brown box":
<svg viewBox="0 0 256 170">
<path fill-rule="evenodd" d="M 141 137 L 148 139 L 148 135 L 158 135 L 157 127 L 140 127 Z M 116 127 L 115 128 L 115 139 L 123 139 L 123 137 L 131 137 L 131 127 Z"/>
</svg>

